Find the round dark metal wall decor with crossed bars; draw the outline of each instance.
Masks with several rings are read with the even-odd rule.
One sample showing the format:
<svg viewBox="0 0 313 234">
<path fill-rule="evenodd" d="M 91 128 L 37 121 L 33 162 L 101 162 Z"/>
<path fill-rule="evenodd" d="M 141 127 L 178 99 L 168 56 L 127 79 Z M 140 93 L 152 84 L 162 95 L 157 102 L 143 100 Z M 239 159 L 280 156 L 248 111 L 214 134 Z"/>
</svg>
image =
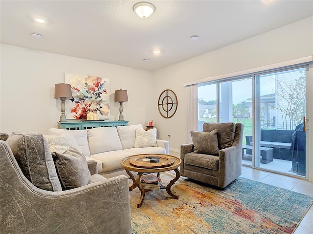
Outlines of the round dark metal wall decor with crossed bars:
<svg viewBox="0 0 313 234">
<path fill-rule="evenodd" d="M 170 118 L 175 115 L 177 110 L 178 100 L 173 90 L 166 89 L 158 98 L 157 107 L 158 112 L 164 118 Z"/>
</svg>

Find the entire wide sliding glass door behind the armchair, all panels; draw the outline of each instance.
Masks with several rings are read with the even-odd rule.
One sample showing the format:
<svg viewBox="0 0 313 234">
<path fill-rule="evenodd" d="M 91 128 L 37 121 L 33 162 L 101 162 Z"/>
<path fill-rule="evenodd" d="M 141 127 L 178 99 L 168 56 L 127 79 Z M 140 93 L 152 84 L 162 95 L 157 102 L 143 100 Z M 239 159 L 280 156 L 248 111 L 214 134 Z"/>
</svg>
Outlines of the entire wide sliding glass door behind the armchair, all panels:
<svg viewBox="0 0 313 234">
<path fill-rule="evenodd" d="M 306 176 L 306 67 L 198 84 L 204 122 L 244 124 L 243 165 Z"/>
</svg>

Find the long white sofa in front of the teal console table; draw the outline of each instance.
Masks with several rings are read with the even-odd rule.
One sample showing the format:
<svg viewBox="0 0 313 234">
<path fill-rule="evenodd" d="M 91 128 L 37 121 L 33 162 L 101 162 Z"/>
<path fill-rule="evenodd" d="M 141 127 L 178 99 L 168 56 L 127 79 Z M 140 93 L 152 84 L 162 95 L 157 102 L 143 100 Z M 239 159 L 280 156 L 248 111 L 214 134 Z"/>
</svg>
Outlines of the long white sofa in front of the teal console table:
<svg viewBox="0 0 313 234">
<path fill-rule="evenodd" d="M 169 141 L 167 140 L 156 139 L 156 146 L 154 147 L 135 148 L 137 129 L 143 131 L 142 125 L 100 127 L 87 130 L 50 128 L 48 135 L 59 136 L 70 132 L 76 139 L 83 155 L 86 156 L 87 161 L 95 160 L 98 173 L 111 178 L 118 175 L 127 175 L 120 164 L 121 159 L 124 157 L 137 154 L 169 154 Z"/>
</svg>

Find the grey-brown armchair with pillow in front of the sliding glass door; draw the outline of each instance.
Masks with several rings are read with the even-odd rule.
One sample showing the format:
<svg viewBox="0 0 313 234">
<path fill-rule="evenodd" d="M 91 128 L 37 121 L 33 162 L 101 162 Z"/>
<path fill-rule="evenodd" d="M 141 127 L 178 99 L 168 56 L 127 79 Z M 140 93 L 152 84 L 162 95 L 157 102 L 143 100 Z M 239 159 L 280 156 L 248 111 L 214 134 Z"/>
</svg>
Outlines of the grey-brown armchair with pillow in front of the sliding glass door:
<svg viewBox="0 0 313 234">
<path fill-rule="evenodd" d="M 209 138 L 203 136 L 204 133 L 192 131 L 194 143 L 180 146 L 181 176 L 226 187 L 241 175 L 243 131 L 242 123 L 204 123 L 203 132 L 213 135 L 217 132 L 216 150 L 214 136 L 209 136 L 211 138 L 206 144 L 203 142 Z M 208 149 L 205 149 L 206 146 Z M 208 154 L 208 150 L 213 153 Z"/>
</svg>

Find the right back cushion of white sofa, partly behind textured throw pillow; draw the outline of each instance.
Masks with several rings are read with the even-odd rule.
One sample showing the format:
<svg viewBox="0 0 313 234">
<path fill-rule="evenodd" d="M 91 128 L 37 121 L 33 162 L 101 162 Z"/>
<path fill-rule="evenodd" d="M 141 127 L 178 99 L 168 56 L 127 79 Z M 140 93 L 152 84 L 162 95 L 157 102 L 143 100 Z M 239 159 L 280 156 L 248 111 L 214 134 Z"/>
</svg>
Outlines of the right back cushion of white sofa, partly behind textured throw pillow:
<svg viewBox="0 0 313 234">
<path fill-rule="evenodd" d="M 123 149 L 134 148 L 136 130 L 143 129 L 141 124 L 128 125 L 128 126 L 117 126 L 117 133 L 121 140 Z"/>
</svg>

